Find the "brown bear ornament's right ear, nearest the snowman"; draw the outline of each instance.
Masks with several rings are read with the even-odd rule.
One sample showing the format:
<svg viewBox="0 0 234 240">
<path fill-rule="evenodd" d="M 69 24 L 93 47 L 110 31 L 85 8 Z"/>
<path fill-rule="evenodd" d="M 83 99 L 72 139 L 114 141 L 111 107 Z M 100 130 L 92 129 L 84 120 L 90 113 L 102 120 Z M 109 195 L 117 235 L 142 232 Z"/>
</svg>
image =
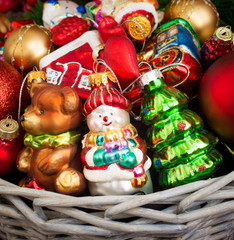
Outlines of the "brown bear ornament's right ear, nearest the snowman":
<svg viewBox="0 0 234 240">
<path fill-rule="evenodd" d="M 71 87 L 63 87 L 62 95 L 64 97 L 63 108 L 65 112 L 75 112 L 81 109 L 81 101 L 76 91 Z"/>
</svg>

